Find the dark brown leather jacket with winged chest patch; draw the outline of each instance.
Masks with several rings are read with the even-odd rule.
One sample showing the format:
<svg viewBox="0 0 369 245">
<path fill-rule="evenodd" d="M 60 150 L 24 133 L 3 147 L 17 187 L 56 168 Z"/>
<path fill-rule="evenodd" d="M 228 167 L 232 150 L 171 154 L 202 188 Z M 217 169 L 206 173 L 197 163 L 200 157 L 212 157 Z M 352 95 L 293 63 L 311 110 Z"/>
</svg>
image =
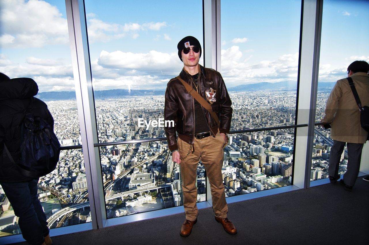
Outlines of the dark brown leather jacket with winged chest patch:
<svg viewBox="0 0 369 245">
<path fill-rule="evenodd" d="M 200 66 L 199 73 L 199 94 L 211 104 L 212 110 L 217 113 L 220 121 L 218 127 L 210 113 L 201 106 L 210 131 L 213 137 L 217 134 L 218 129 L 221 133 L 228 133 L 231 127 L 232 102 L 224 80 L 219 72 L 203 66 Z M 182 69 L 179 75 L 188 84 L 192 83 L 192 76 L 185 69 Z M 211 92 L 213 92 L 213 97 L 210 97 L 209 93 Z M 166 87 L 164 118 L 165 120 L 173 120 L 175 122 L 174 127 L 171 127 L 170 124 L 167 124 L 168 127 L 165 127 L 170 151 L 178 149 L 176 131 L 180 139 L 193 144 L 195 131 L 194 99 L 187 93 L 183 84 L 177 78 L 171 79 Z"/>
</svg>

